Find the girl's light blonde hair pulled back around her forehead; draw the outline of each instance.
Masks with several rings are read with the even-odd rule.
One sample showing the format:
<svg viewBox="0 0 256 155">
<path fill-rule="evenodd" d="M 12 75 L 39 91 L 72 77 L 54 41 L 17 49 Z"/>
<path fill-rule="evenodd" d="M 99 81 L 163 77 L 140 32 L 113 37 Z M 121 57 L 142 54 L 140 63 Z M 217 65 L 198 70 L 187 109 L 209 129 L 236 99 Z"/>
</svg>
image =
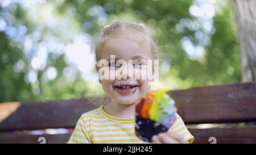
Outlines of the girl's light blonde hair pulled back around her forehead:
<svg viewBox="0 0 256 155">
<path fill-rule="evenodd" d="M 110 37 L 120 37 L 121 35 L 133 38 L 135 40 L 139 39 L 138 35 L 143 37 L 143 39 L 141 39 L 141 43 L 144 44 L 144 41 L 147 40 L 148 47 L 153 58 L 155 60 L 158 58 L 158 46 L 142 23 L 134 24 L 127 22 L 115 22 L 110 26 L 105 26 L 104 30 L 100 33 L 100 36 L 97 39 L 95 50 L 96 61 L 100 60 L 100 55 L 105 41 Z"/>
</svg>

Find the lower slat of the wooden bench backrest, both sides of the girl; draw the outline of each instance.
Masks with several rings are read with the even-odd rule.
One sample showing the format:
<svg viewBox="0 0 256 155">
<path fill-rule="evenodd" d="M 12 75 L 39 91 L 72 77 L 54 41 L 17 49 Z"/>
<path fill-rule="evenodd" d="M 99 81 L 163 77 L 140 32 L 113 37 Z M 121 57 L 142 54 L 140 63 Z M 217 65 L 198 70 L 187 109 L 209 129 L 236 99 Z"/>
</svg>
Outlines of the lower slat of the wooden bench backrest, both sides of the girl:
<svg viewBox="0 0 256 155">
<path fill-rule="evenodd" d="M 216 143 L 256 143 L 256 126 L 189 129 L 195 136 L 195 144 L 213 143 L 210 137 L 216 138 Z M 15 135 L 10 133 L 0 134 L 1 143 L 34 143 L 39 144 L 39 137 L 45 137 L 46 143 L 67 143 L 71 133 L 56 135 Z"/>
</svg>

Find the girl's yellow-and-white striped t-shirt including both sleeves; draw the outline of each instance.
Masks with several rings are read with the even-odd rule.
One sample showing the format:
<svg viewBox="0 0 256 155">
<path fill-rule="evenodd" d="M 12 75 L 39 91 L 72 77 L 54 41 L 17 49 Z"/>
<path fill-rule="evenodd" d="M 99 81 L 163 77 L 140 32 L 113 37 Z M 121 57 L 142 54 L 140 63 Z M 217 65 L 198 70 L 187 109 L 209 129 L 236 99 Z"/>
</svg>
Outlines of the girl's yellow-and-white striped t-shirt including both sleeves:
<svg viewBox="0 0 256 155">
<path fill-rule="evenodd" d="M 177 115 L 168 132 L 179 133 L 189 143 L 194 137 Z M 135 135 L 135 118 L 116 118 L 100 106 L 85 112 L 78 120 L 68 143 L 144 143 Z"/>
</svg>

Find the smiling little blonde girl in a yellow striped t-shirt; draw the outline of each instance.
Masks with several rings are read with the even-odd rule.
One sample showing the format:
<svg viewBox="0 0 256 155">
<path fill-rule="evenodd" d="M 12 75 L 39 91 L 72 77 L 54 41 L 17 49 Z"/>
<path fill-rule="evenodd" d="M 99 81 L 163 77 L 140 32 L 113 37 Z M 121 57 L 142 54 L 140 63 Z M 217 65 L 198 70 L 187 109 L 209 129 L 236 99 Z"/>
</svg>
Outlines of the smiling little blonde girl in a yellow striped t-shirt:
<svg viewBox="0 0 256 155">
<path fill-rule="evenodd" d="M 114 62 L 110 61 L 113 56 Z M 107 68 L 110 74 L 117 72 L 123 65 L 118 60 L 141 71 L 147 67 L 142 60 L 157 58 L 158 47 L 143 24 L 115 22 L 104 28 L 96 44 L 97 62 L 108 62 L 106 66 L 96 66 L 97 72 L 102 68 Z M 114 79 L 99 78 L 99 82 L 111 103 L 82 114 L 68 143 L 144 143 L 135 135 L 135 106 L 150 90 L 151 79 L 123 72 L 115 74 Z M 192 143 L 193 139 L 177 115 L 168 132 L 153 136 L 151 143 Z"/>
</svg>

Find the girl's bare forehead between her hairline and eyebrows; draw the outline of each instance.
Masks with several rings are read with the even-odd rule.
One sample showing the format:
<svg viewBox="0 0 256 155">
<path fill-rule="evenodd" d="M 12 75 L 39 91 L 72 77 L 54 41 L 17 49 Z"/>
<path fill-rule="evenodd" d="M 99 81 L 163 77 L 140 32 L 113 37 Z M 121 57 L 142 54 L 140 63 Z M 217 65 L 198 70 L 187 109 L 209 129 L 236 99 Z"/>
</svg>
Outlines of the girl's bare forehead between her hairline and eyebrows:
<svg viewBox="0 0 256 155">
<path fill-rule="evenodd" d="M 152 59 L 152 53 L 148 44 L 126 37 L 114 37 L 105 40 L 101 51 L 101 59 L 107 59 L 110 55 L 116 58 L 129 60 L 137 57 Z"/>
</svg>

